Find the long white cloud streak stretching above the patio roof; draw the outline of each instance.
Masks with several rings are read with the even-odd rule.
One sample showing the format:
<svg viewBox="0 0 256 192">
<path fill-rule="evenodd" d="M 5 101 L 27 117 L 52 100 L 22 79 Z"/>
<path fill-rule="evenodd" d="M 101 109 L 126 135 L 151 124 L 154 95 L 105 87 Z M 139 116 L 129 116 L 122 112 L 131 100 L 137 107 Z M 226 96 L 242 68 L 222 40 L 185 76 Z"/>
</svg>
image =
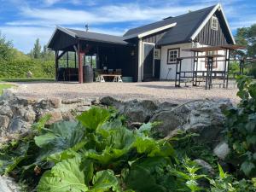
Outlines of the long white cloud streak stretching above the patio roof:
<svg viewBox="0 0 256 192">
<path fill-rule="evenodd" d="M 56 0 L 55 0 L 56 1 Z M 9 21 L 10 26 L 53 26 L 53 25 L 100 25 L 128 21 L 154 21 L 170 15 L 180 15 L 201 6 L 141 7 L 137 3 L 109 5 L 86 11 L 83 9 L 32 9 L 22 8 L 22 20 Z M 86 6 L 84 6 L 86 9 Z"/>
</svg>

